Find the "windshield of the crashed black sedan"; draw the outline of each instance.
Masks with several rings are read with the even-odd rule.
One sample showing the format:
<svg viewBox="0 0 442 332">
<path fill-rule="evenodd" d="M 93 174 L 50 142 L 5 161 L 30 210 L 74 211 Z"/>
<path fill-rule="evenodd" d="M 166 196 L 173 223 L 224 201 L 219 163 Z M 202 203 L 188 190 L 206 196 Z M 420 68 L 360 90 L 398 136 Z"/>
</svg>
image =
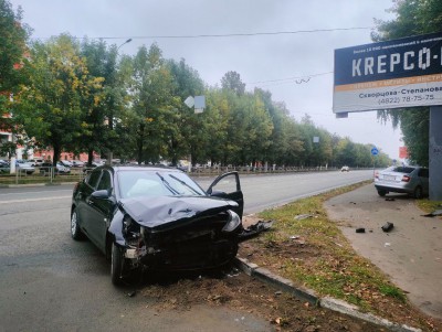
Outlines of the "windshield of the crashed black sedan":
<svg viewBox="0 0 442 332">
<path fill-rule="evenodd" d="M 117 174 L 123 199 L 137 196 L 201 196 L 206 193 L 180 172 L 120 171 Z"/>
</svg>

